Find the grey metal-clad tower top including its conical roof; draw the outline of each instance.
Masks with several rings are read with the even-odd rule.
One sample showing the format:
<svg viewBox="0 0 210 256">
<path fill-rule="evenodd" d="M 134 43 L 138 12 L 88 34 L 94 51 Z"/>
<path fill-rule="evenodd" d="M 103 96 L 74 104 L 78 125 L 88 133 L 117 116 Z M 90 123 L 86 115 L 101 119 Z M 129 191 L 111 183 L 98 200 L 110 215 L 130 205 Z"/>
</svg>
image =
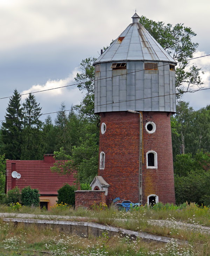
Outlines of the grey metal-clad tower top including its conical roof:
<svg viewBox="0 0 210 256">
<path fill-rule="evenodd" d="M 139 15 L 93 63 L 94 113 L 176 112 L 176 61 L 139 23 Z"/>
</svg>

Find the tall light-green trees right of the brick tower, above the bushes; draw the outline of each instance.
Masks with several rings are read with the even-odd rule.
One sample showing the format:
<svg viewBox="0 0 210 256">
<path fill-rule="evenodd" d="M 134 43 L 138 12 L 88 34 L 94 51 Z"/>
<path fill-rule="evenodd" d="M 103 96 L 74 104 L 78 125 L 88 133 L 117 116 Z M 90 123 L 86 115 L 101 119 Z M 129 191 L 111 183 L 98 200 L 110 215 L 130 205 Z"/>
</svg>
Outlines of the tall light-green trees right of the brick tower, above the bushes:
<svg viewBox="0 0 210 256">
<path fill-rule="evenodd" d="M 177 103 L 177 112 L 171 117 L 173 156 L 180 153 L 196 154 L 197 150 L 210 151 L 210 109 L 209 106 L 194 110 L 188 102 Z"/>
</svg>

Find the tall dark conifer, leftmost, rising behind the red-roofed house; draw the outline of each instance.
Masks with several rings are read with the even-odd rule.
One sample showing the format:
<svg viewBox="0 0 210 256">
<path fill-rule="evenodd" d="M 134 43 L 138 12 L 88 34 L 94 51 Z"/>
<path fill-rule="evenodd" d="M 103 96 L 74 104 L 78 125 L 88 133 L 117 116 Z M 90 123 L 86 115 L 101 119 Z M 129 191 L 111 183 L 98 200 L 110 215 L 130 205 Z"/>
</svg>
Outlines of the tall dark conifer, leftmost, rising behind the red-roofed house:
<svg viewBox="0 0 210 256">
<path fill-rule="evenodd" d="M 9 99 L 5 122 L 1 127 L 2 154 L 6 159 L 20 160 L 22 143 L 22 108 L 21 95 L 15 89 L 13 96 Z"/>
</svg>

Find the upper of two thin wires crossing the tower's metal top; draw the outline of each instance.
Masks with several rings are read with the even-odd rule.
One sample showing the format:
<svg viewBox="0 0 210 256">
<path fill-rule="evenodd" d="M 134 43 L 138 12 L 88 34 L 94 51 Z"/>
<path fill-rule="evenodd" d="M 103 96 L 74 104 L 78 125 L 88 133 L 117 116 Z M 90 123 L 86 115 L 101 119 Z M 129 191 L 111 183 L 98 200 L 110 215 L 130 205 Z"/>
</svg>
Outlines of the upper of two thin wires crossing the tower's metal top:
<svg viewBox="0 0 210 256">
<path fill-rule="evenodd" d="M 203 55 L 203 56 L 199 56 L 199 57 L 195 57 L 195 58 L 191 58 L 191 59 L 188 59 L 186 61 L 190 61 L 190 60 L 194 60 L 194 59 L 198 59 L 198 58 L 203 58 L 203 57 L 207 57 L 207 56 L 210 56 L 210 54 L 207 54 L 207 55 Z M 182 61 L 178 61 L 176 63 L 180 63 Z M 167 64 L 164 64 L 164 65 L 160 65 L 158 67 L 164 67 L 164 66 L 167 66 L 167 65 L 171 65 L 169 63 Z M 147 68 L 149 69 L 149 68 Z M 133 74 L 133 73 L 136 73 L 136 72 L 140 72 L 140 71 L 144 71 L 144 70 L 147 70 L 147 69 L 141 69 L 141 70 L 136 70 L 136 71 L 133 71 L 133 72 L 128 72 L 127 74 Z M 116 76 L 122 76 L 124 74 L 120 74 L 120 75 L 114 75 L 114 76 L 110 76 L 110 77 L 107 77 L 107 78 L 100 78 L 100 79 L 97 79 L 96 81 L 100 81 L 100 80 L 104 80 L 104 79 L 109 79 L 109 78 L 113 78 L 113 77 L 116 77 Z M 59 89 L 59 88 L 65 88 L 65 87 L 70 87 L 70 86 L 74 86 L 74 85 L 79 85 L 80 83 L 73 83 L 72 85 L 65 85 L 65 86 L 59 86 L 59 87 L 56 87 L 56 88 L 50 88 L 50 89 L 45 89 L 45 90 L 40 90 L 40 91 L 36 91 L 36 92 L 32 92 L 32 93 L 40 93 L 40 92 L 46 92 L 46 91 L 49 91 L 49 90 L 55 90 L 55 89 Z M 23 95 L 28 95 L 29 93 L 23 93 L 23 94 L 20 94 L 21 96 Z M 0 98 L 0 100 L 2 99 L 8 99 L 8 98 L 11 98 L 12 96 L 8 96 L 8 97 L 2 97 Z"/>
</svg>

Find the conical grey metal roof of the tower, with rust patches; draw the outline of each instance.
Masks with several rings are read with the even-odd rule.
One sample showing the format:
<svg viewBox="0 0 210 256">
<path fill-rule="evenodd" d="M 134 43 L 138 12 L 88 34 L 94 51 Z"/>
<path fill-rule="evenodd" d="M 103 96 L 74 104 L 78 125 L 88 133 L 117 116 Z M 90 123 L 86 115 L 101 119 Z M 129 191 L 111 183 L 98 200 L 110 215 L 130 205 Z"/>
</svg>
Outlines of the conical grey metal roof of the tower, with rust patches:
<svg viewBox="0 0 210 256">
<path fill-rule="evenodd" d="M 144 61 L 176 61 L 162 48 L 162 46 L 139 23 L 139 16 L 135 13 L 131 23 L 105 52 L 94 62 L 144 60 Z"/>
</svg>

